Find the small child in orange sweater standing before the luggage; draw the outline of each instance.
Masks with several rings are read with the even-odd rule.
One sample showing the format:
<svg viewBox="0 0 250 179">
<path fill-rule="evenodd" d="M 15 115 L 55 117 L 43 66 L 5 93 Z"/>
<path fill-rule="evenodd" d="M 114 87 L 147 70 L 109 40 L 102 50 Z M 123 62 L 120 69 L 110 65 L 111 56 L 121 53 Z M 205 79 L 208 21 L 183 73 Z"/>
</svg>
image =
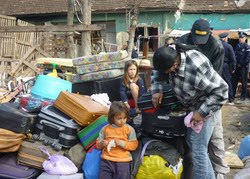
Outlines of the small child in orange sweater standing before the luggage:
<svg viewBox="0 0 250 179">
<path fill-rule="evenodd" d="M 122 101 L 114 101 L 109 110 L 108 122 L 96 142 L 102 149 L 99 178 L 129 179 L 130 151 L 138 146 L 135 130 L 126 121 L 129 119 L 128 108 Z"/>
</svg>

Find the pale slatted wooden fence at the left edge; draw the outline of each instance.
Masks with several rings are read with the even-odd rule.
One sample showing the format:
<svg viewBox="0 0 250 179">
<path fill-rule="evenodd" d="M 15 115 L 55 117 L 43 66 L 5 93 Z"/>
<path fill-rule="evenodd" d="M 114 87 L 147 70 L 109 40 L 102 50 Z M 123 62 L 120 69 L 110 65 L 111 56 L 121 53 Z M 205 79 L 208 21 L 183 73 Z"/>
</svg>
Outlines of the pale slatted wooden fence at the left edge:
<svg viewBox="0 0 250 179">
<path fill-rule="evenodd" d="M 32 26 L 32 24 L 17 20 L 15 17 L 0 15 L 0 26 Z M 12 78 L 11 73 L 14 74 L 13 69 L 36 45 L 40 35 L 35 32 L 0 33 L 0 87 L 7 85 L 7 81 Z M 30 75 L 35 75 L 35 71 Z"/>
</svg>

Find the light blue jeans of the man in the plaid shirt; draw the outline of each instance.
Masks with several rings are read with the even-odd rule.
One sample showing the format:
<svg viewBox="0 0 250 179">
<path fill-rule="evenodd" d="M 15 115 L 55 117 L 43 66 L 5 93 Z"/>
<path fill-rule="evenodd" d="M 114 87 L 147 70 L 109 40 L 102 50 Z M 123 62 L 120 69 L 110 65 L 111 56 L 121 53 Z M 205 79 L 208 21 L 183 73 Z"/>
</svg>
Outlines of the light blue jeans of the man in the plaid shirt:
<svg viewBox="0 0 250 179">
<path fill-rule="evenodd" d="M 219 111 L 206 118 L 199 134 L 188 128 L 186 140 L 192 152 L 193 179 L 215 179 L 213 167 L 208 155 L 208 143 L 214 126 L 218 120 Z"/>
</svg>

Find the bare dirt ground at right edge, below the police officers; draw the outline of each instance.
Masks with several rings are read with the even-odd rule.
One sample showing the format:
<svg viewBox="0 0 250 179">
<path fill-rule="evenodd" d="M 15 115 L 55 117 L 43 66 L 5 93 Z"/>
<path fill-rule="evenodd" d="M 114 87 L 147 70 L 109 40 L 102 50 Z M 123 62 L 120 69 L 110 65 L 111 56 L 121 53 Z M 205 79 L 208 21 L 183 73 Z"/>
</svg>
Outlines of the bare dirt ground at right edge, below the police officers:
<svg viewBox="0 0 250 179">
<path fill-rule="evenodd" d="M 250 135 L 250 100 L 237 101 L 234 105 L 226 104 L 222 108 L 225 149 L 231 153 L 238 153 L 242 138 Z M 233 179 L 240 169 L 230 168 L 227 179 Z"/>
</svg>

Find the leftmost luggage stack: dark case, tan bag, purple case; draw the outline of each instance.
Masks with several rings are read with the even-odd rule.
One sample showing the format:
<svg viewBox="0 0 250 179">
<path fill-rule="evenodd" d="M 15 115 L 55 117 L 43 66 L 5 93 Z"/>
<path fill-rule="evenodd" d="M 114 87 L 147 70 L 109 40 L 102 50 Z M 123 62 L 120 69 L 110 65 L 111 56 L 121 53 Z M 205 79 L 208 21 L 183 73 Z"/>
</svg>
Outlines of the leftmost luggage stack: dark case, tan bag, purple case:
<svg viewBox="0 0 250 179">
<path fill-rule="evenodd" d="M 20 110 L 18 104 L 0 104 L 0 178 L 36 178 L 41 173 L 17 160 L 17 151 L 35 124 L 36 115 Z"/>
</svg>

